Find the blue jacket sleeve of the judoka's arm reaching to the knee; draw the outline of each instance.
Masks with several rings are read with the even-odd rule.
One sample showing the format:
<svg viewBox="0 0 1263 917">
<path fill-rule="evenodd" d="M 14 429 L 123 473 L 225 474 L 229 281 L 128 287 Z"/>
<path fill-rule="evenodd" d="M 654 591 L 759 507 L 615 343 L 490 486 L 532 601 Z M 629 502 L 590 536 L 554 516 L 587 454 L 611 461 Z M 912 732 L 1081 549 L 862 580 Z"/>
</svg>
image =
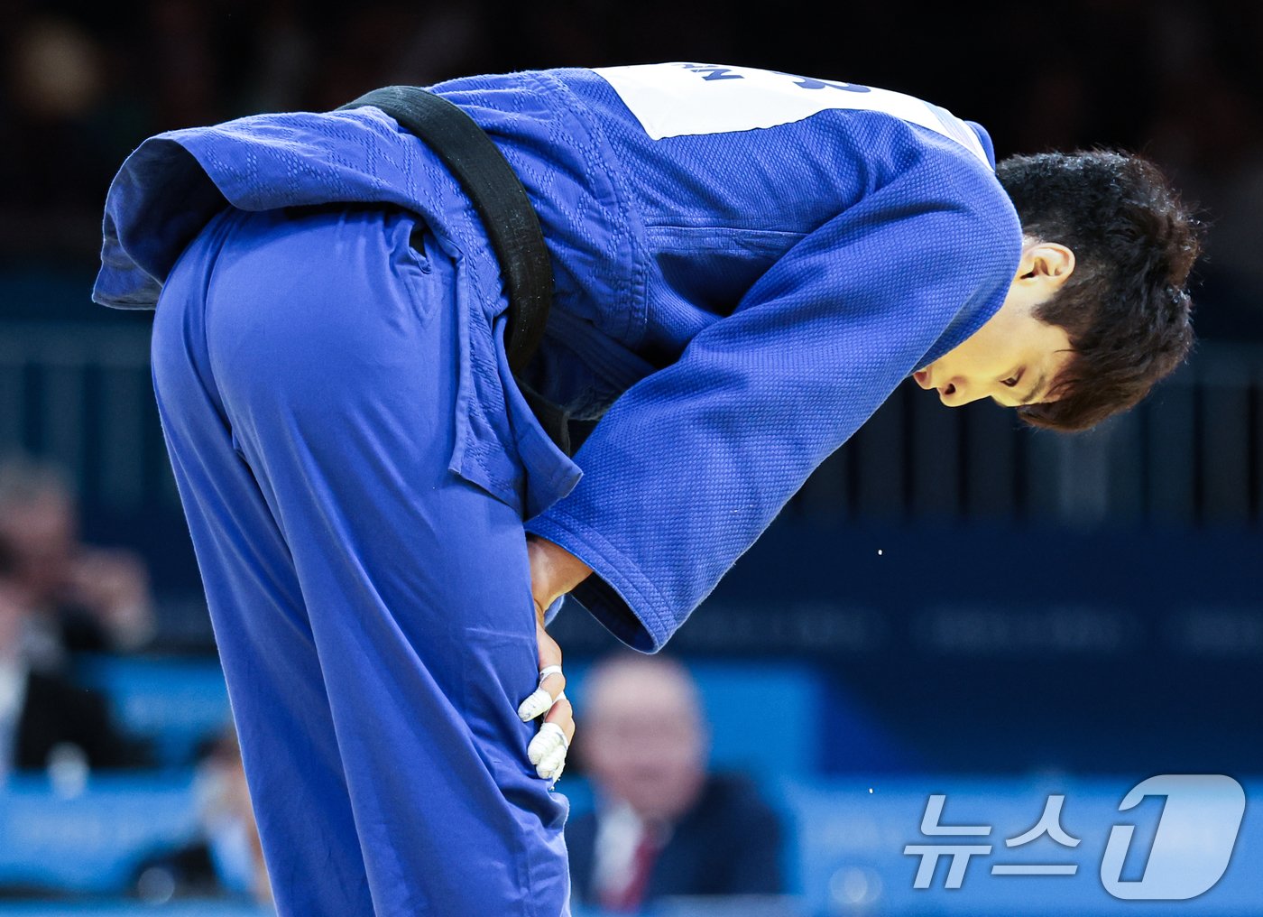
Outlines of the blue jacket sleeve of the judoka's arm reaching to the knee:
<svg viewBox="0 0 1263 917">
<path fill-rule="evenodd" d="M 614 402 L 525 528 L 592 568 L 571 595 L 615 637 L 661 649 L 899 381 L 999 308 L 1021 229 L 969 203 L 994 200 L 978 181 L 913 168 L 868 195 Z"/>
</svg>

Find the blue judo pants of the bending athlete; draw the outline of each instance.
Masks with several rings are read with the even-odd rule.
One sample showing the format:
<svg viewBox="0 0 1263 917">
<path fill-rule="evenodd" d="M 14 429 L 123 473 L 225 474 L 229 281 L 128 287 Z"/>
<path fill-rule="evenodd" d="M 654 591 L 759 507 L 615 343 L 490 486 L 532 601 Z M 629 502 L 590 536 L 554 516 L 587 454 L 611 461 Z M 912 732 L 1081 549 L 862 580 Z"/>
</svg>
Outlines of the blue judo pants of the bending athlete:
<svg viewBox="0 0 1263 917">
<path fill-rule="evenodd" d="M 447 467 L 453 272 L 403 211 L 229 208 L 154 315 L 282 917 L 568 913 L 522 518 Z"/>
</svg>

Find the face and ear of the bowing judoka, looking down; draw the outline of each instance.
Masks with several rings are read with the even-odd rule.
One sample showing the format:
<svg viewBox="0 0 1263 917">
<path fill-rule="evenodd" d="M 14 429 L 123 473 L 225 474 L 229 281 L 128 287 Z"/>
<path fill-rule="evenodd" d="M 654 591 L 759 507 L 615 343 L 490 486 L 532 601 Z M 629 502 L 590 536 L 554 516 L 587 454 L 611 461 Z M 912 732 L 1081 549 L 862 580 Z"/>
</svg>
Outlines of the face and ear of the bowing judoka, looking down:
<svg viewBox="0 0 1263 917">
<path fill-rule="evenodd" d="M 1028 240 L 1004 304 L 964 344 L 913 373 L 957 408 L 979 398 L 1015 408 L 1056 400 L 1057 375 L 1074 357 L 1070 336 L 1033 312 L 1070 277 L 1075 256 L 1063 245 Z"/>
</svg>

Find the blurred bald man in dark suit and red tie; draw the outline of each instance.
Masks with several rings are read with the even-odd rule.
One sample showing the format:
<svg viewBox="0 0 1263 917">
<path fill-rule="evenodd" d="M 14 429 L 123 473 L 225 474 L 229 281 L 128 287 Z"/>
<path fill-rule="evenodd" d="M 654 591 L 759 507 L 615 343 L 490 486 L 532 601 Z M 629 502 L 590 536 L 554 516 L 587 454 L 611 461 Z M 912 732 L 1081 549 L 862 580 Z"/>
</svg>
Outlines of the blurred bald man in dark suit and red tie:
<svg viewBox="0 0 1263 917">
<path fill-rule="evenodd" d="M 580 722 L 597 805 L 566 825 L 576 898 L 628 912 L 667 896 L 784 890 L 779 818 L 749 779 L 707 773 L 709 729 L 679 662 L 597 663 Z"/>
</svg>

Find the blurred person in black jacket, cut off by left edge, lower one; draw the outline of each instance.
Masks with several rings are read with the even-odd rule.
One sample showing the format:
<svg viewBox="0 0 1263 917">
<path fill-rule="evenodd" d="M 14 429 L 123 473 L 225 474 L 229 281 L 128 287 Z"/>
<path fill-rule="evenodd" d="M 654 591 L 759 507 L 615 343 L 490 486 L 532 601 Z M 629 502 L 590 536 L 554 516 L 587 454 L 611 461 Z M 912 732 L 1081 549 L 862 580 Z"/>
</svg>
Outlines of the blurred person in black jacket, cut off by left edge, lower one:
<svg viewBox="0 0 1263 917">
<path fill-rule="evenodd" d="M 106 698 L 25 657 L 23 625 L 28 594 L 0 556 L 0 782 L 13 770 L 42 770 L 57 763 L 86 768 L 139 767 L 139 744 L 111 717 Z"/>
</svg>

